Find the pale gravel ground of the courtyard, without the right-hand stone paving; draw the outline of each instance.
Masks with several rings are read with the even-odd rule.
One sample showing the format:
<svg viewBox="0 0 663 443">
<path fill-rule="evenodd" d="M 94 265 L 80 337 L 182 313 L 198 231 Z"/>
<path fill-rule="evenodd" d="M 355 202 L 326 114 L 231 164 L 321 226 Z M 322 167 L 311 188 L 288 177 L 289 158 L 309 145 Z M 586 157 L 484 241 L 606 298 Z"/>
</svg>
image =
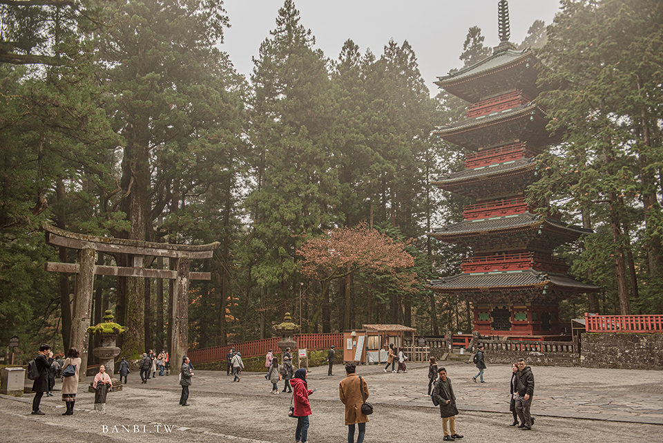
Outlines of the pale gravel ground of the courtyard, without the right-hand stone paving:
<svg viewBox="0 0 663 443">
<path fill-rule="evenodd" d="M 310 443 L 347 441 L 343 405 L 338 401 L 337 394 L 338 381 L 342 378 L 340 370 L 342 367 L 339 366 L 337 375 L 326 377 L 322 369 L 316 369 L 309 377 L 309 386 L 319 388 L 311 395 Z M 473 368 L 465 365 L 454 366 L 451 370 L 462 372 L 464 377 L 464 373 L 472 372 Z M 410 392 L 408 384 L 422 378 L 422 375 L 425 379 L 426 368 L 423 365 L 414 365 L 405 375 L 384 374 L 375 367 L 361 367 L 360 373 L 365 375 L 369 388 L 373 388 L 369 401 L 375 406 L 375 413 L 367 424 L 366 442 L 442 440 L 439 410 L 424 402 L 421 394 L 408 398 L 399 393 Z M 660 377 L 659 373 L 650 371 L 649 374 Z M 488 374 L 487 371 L 487 377 Z M 82 384 L 72 416 L 61 415 L 64 403 L 57 397 L 57 392 L 55 397 L 45 398 L 42 402 L 42 411 L 46 413 L 43 416 L 30 415 L 32 395 L 21 398 L 0 396 L 0 442 L 294 442 L 296 420 L 287 417 L 290 396 L 269 394 L 271 384 L 260 374 L 247 373 L 237 384 L 231 383 L 231 377 L 226 377 L 225 373 L 196 372 L 191 386 L 191 406 L 186 408 L 177 404 L 180 393 L 177 377 L 157 377 L 147 385 L 141 385 L 140 380 L 137 382 L 136 379 L 137 375 L 131 374 L 129 384 L 122 392 L 109 394 L 105 413 L 91 411 L 94 395 L 86 392 Z M 624 395 L 624 387 L 633 393 L 634 386 L 628 382 L 613 385 L 609 389 L 613 389 L 615 395 Z M 454 389 L 460 390 L 461 395 L 465 391 L 470 392 L 470 389 L 488 389 L 488 386 L 461 381 L 460 377 L 454 382 Z M 497 384 L 494 386 L 497 388 Z M 587 392 L 594 388 L 586 386 Z M 606 394 L 605 389 L 602 388 L 601 395 Z M 656 397 L 661 386 L 654 384 L 652 389 Z M 387 397 L 385 392 L 394 394 Z M 483 392 L 489 396 L 491 391 Z M 535 416 L 536 399 L 532 406 Z M 508 426 L 511 422 L 508 411 L 468 411 L 463 410 L 462 406 L 459 404 L 461 413 L 457 417 L 457 432 L 465 435 L 463 442 L 663 442 L 663 426 L 657 424 L 538 415 L 532 431 L 523 431 Z"/>
</svg>

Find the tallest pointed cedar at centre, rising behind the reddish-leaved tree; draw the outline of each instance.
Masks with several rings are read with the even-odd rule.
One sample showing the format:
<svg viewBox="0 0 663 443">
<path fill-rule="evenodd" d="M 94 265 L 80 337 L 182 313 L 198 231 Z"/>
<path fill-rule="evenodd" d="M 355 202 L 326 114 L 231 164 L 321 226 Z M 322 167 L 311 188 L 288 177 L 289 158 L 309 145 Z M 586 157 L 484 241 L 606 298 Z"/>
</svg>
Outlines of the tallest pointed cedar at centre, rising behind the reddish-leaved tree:
<svg viewBox="0 0 663 443">
<path fill-rule="evenodd" d="M 278 310 L 271 312 L 280 317 L 297 283 L 297 247 L 338 219 L 338 177 L 329 149 L 326 60 L 313 48 L 315 39 L 300 24 L 293 1 L 280 8 L 270 35 L 251 75 L 250 134 L 258 163 L 256 189 L 246 203 L 253 218 L 252 249 L 261 258 L 253 276 L 263 296 L 276 300 Z"/>
</svg>

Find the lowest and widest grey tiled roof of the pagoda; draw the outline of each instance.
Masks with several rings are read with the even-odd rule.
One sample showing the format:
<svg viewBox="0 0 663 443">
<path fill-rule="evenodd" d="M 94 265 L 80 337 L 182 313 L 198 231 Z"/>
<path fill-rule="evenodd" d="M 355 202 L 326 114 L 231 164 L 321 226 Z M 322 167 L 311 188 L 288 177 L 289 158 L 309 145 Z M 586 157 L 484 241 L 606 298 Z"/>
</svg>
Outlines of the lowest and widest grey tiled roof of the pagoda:
<svg viewBox="0 0 663 443">
<path fill-rule="evenodd" d="M 596 292 L 598 286 L 582 283 L 570 276 L 539 272 L 536 270 L 477 272 L 456 274 L 443 279 L 432 280 L 425 288 L 435 292 L 473 292 L 473 291 L 513 291 L 553 286 L 570 292 Z"/>
</svg>

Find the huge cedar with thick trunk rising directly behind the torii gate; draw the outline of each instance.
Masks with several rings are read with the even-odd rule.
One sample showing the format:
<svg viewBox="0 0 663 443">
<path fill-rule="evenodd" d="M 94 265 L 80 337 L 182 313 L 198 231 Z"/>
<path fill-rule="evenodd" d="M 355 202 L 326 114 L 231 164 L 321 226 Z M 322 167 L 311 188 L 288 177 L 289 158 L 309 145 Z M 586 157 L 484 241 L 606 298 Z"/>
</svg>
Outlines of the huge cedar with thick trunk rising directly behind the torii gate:
<svg viewBox="0 0 663 443">
<path fill-rule="evenodd" d="M 209 181 L 217 148 L 233 138 L 238 102 L 224 84 L 229 61 L 217 45 L 228 18 L 222 2 L 139 0 L 105 3 L 99 68 L 110 85 L 108 111 L 124 138 L 115 201 L 131 223 L 117 232 L 140 241 L 187 241 L 179 231 L 159 229 L 164 210 L 177 212 Z M 225 132 L 224 132 L 225 131 Z M 156 228 L 156 229 L 155 229 Z M 177 228 L 176 228 L 177 229 Z M 118 263 L 126 261 L 115 257 Z M 149 265 L 150 258 L 145 258 Z M 128 263 L 131 265 L 131 263 Z M 117 318 L 128 327 L 123 352 L 145 348 L 145 279 L 120 284 Z"/>
</svg>

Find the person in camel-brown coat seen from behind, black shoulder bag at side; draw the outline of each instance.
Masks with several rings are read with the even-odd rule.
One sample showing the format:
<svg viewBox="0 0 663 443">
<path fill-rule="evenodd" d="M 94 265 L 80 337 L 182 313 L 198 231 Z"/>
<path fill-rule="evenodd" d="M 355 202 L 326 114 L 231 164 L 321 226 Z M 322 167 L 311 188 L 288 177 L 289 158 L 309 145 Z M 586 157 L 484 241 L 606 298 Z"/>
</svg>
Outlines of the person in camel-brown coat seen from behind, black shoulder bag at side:
<svg viewBox="0 0 663 443">
<path fill-rule="evenodd" d="M 354 425 L 359 424 L 357 443 L 363 443 L 368 416 L 361 412 L 361 405 L 368 398 L 368 384 L 363 377 L 356 375 L 354 363 L 345 365 L 345 378 L 338 384 L 338 396 L 345 404 L 345 424 L 347 443 L 354 443 Z M 363 391 L 363 397 L 362 397 Z"/>
</svg>

